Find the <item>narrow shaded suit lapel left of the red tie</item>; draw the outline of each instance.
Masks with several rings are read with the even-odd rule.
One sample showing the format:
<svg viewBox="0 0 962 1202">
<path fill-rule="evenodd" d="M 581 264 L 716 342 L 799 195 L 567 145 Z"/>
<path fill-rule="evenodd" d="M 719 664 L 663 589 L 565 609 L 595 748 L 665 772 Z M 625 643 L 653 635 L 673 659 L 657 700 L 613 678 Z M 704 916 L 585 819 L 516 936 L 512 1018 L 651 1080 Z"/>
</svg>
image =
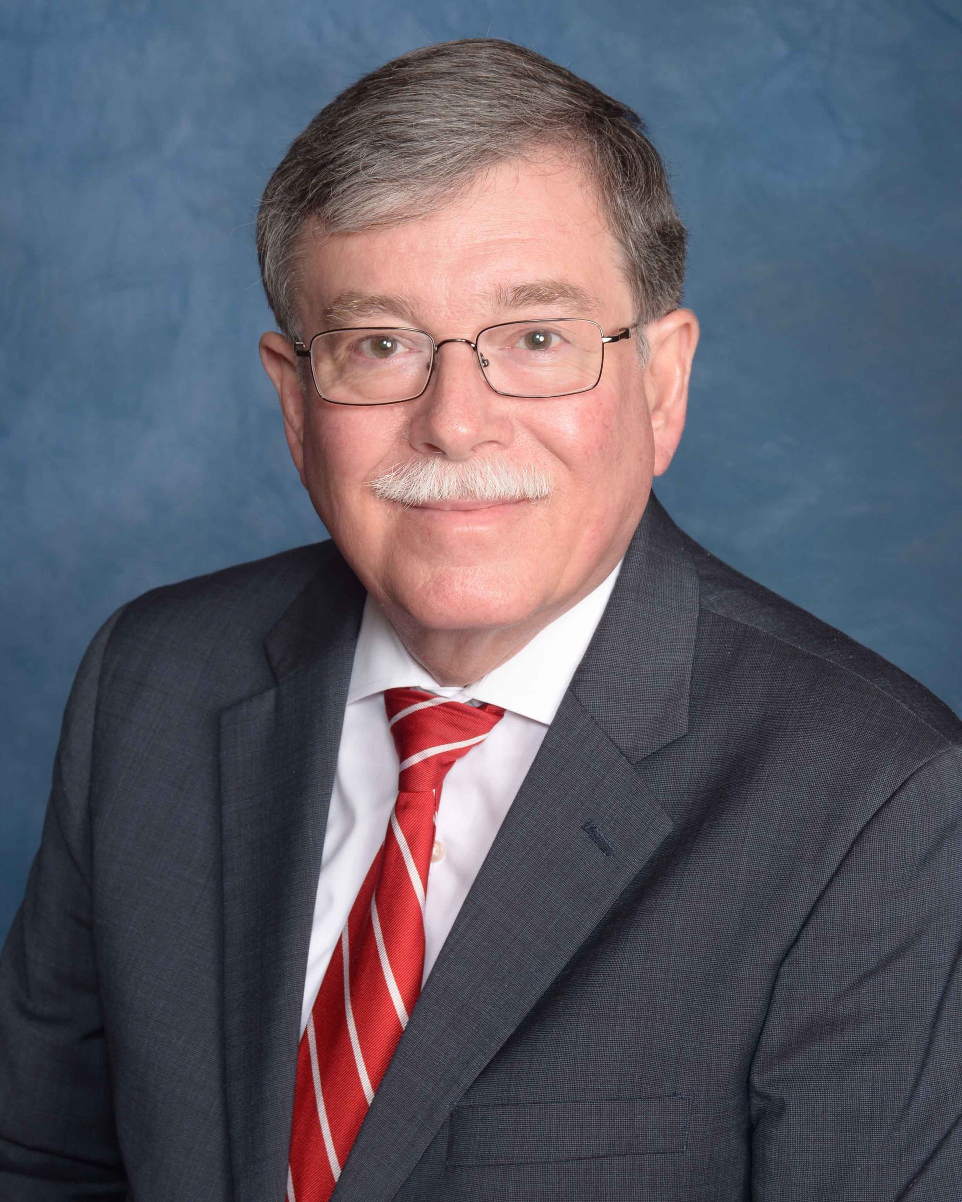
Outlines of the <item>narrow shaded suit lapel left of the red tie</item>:
<svg viewBox="0 0 962 1202">
<path fill-rule="evenodd" d="M 278 685 L 221 715 L 224 1002 L 237 1202 L 283 1198 L 302 990 L 363 590 L 323 551 L 267 639 Z"/>
</svg>

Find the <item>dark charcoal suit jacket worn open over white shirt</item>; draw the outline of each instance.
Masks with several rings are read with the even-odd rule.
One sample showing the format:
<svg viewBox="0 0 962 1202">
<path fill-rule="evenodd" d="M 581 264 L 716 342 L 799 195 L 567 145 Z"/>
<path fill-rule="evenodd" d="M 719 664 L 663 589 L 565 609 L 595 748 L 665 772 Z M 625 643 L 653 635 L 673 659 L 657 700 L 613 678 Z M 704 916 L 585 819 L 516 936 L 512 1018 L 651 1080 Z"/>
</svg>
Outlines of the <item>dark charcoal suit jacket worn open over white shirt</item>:
<svg viewBox="0 0 962 1202">
<path fill-rule="evenodd" d="M 0 964 L 0 1197 L 281 1202 L 363 594 L 115 614 Z M 962 1198 L 962 725 L 654 498 L 335 1202 Z"/>
</svg>

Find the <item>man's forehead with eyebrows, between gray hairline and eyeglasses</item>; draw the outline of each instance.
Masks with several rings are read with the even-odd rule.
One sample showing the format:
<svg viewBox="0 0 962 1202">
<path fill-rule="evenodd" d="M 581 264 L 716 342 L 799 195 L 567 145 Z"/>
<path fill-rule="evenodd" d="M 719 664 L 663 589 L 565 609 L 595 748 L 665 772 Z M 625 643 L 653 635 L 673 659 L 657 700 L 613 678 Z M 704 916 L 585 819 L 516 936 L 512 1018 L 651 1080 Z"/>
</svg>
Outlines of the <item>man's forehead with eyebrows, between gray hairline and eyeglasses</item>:
<svg viewBox="0 0 962 1202">
<path fill-rule="evenodd" d="M 620 248 L 570 159 L 503 162 L 397 225 L 305 230 L 298 260 L 311 329 L 376 313 L 475 319 L 539 304 L 599 317 L 617 309 L 620 320 L 630 303 Z"/>
</svg>

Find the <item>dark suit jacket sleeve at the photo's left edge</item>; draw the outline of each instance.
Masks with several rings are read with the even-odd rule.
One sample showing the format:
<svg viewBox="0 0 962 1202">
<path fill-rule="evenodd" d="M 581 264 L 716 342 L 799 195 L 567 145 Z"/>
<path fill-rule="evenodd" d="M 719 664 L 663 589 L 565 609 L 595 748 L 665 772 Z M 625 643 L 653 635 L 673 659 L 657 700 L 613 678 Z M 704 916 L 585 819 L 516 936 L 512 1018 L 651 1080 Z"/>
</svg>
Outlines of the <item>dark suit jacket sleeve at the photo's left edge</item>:
<svg viewBox="0 0 962 1202">
<path fill-rule="evenodd" d="M 91 744 L 103 649 L 67 703 L 40 851 L 0 956 L 0 1197 L 123 1198 L 91 934 Z"/>
</svg>

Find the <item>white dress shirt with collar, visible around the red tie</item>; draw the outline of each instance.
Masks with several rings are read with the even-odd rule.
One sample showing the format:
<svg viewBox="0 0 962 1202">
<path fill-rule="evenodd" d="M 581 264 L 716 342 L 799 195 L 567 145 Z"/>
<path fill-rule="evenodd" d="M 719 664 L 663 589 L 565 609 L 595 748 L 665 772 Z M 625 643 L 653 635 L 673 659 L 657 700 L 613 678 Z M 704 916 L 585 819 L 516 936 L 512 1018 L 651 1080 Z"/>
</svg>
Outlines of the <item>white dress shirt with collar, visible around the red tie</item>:
<svg viewBox="0 0 962 1202">
<path fill-rule="evenodd" d="M 620 563 L 500 667 L 467 688 L 443 686 L 405 649 L 368 596 L 354 654 L 334 787 L 314 904 L 301 1030 L 354 899 L 384 840 L 398 792 L 398 756 L 385 689 L 416 688 L 501 706 L 504 718 L 445 776 L 428 871 L 424 978 L 534 761 L 607 605 Z"/>
</svg>

